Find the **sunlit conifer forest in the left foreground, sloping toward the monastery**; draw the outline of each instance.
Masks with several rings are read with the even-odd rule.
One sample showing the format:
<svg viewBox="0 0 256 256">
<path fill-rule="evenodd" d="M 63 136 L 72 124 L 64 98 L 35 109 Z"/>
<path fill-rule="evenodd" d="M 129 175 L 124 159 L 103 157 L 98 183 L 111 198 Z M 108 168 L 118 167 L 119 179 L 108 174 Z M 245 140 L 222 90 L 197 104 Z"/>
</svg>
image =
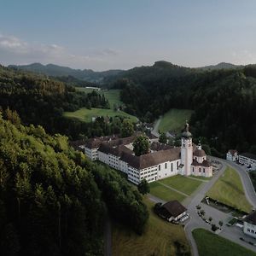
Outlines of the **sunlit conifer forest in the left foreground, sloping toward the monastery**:
<svg viewBox="0 0 256 256">
<path fill-rule="evenodd" d="M 67 137 L 0 117 L 1 255 L 102 255 L 106 208 L 143 232 L 148 210 L 125 178 L 90 163 Z"/>
</svg>

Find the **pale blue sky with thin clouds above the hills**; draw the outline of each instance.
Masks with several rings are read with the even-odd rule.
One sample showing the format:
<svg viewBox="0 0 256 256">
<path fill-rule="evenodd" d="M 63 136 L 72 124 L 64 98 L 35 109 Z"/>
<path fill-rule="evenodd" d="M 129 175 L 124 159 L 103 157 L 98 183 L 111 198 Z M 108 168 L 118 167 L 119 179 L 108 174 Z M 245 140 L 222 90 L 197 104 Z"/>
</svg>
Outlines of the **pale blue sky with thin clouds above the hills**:
<svg viewBox="0 0 256 256">
<path fill-rule="evenodd" d="M 256 63 L 255 0 L 0 0 L 0 63 Z"/>
</svg>

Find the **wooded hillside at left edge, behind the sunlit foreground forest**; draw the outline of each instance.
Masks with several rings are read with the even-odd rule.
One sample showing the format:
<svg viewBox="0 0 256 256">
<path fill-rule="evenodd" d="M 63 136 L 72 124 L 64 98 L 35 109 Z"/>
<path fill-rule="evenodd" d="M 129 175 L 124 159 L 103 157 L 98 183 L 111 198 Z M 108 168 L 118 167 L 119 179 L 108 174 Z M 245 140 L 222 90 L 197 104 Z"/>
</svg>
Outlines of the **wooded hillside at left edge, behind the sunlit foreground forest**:
<svg viewBox="0 0 256 256">
<path fill-rule="evenodd" d="M 24 124 L 43 125 L 52 134 L 61 132 L 73 139 L 89 130 L 89 134 L 97 135 L 96 129 L 101 124 L 87 125 L 66 119 L 62 116 L 64 111 L 110 108 L 105 96 L 96 91 L 86 94 L 60 81 L 7 67 L 0 67 L 0 106 L 3 110 L 16 110 Z"/>
</svg>

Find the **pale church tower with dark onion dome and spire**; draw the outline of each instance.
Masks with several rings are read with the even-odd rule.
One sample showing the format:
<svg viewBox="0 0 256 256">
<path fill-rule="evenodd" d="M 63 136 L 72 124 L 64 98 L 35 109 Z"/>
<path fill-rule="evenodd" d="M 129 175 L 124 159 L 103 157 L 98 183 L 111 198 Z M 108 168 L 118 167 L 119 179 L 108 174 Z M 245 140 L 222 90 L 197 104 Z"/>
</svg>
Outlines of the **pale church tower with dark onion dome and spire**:
<svg viewBox="0 0 256 256">
<path fill-rule="evenodd" d="M 193 160 L 192 134 L 189 132 L 189 124 L 186 123 L 185 131 L 182 133 L 181 164 L 183 165 L 181 174 L 189 176 L 191 174 L 191 164 Z"/>
</svg>

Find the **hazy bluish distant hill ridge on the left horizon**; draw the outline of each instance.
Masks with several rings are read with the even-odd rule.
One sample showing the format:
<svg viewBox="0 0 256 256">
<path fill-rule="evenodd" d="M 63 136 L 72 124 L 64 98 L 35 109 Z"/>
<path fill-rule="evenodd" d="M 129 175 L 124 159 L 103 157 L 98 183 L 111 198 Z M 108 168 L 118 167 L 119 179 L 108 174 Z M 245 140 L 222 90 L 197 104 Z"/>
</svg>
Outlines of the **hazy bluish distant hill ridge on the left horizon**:
<svg viewBox="0 0 256 256">
<path fill-rule="evenodd" d="M 67 77 L 72 76 L 75 79 L 87 81 L 90 83 L 101 84 L 103 79 L 116 76 L 122 70 L 107 70 L 95 72 L 91 69 L 73 69 L 70 67 L 62 67 L 55 64 L 43 65 L 41 63 L 32 63 L 30 65 L 9 65 L 11 68 L 25 70 L 33 73 L 43 73 L 52 77 Z"/>
</svg>

